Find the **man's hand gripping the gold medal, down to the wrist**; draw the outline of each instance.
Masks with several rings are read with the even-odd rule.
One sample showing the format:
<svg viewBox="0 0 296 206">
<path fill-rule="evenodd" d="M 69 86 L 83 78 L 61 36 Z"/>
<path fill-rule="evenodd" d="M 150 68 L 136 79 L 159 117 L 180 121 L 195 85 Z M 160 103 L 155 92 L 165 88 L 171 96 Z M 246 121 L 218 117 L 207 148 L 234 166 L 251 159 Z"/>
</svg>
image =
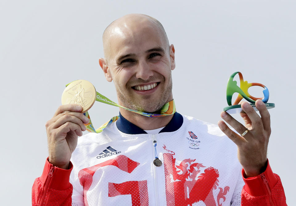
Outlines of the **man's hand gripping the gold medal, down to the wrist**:
<svg viewBox="0 0 296 206">
<path fill-rule="evenodd" d="M 56 167 L 68 169 L 78 136 L 82 136 L 82 131 L 86 130 L 84 123 L 88 123 L 89 119 L 81 110 L 78 104 L 61 105 L 45 124 L 49 162 Z"/>
</svg>

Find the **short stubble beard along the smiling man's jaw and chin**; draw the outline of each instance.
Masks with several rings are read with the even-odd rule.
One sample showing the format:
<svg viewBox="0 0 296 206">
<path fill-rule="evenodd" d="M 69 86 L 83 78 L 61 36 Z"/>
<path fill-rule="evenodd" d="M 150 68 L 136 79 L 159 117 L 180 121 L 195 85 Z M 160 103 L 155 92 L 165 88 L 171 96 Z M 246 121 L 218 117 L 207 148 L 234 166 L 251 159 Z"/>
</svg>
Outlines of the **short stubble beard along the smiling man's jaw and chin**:
<svg viewBox="0 0 296 206">
<path fill-rule="evenodd" d="M 142 99 L 142 101 L 147 101 L 146 105 L 140 105 L 140 103 L 136 103 L 131 98 L 131 95 L 128 92 L 120 91 L 119 87 L 115 87 L 115 88 L 116 88 L 117 95 L 121 103 L 123 104 L 121 106 L 124 106 L 129 109 L 137 110 L 137 111 L 160 114 L 160 111 L 163 105 L 165 105 L 168 101 L 171 101 L 171 99 L 168 99 L 168 98 L 170 97 L 172 92 L 172 87 L 173 87 L 172 78 L 170 78 L 169 81 L 170 83 L 168 84 L 166 90 L 162 93 L 162 96 L 158 97 L 158 99 L 150 99 L 150 95 L 147 95 L 145 99 Z"/>
</svg>

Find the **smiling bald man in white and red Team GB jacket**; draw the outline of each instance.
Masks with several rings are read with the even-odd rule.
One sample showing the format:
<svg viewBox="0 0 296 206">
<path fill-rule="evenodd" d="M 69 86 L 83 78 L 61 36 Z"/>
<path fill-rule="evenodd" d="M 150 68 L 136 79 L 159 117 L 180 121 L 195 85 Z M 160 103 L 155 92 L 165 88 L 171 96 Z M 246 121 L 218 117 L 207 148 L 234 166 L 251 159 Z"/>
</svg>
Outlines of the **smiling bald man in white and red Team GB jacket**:
<svg viewBox="0 0 296 206">
<path fill-rule="evenodd" d="M 173 103 L 175 48 L 156 19 L 121 17 L 106 28 L 103 43 L 99 64 L 120 105 L 159 114 Z M 261 117 L 242 103 L 246 127 L 221 113 L 243 136 L 223 121 L 218 125 L 229 138 L 177 112 L 150 118 L 120 108 L 120 118 L 103 132 L 78 139 L 88 123 L 82 108 L 60 106 L 46 123 L 49 157 L 32 188 L 32 204 L 286 205 L 266 157 L 269 113 L 260 100 L 256 107 Z"/>
</svg>

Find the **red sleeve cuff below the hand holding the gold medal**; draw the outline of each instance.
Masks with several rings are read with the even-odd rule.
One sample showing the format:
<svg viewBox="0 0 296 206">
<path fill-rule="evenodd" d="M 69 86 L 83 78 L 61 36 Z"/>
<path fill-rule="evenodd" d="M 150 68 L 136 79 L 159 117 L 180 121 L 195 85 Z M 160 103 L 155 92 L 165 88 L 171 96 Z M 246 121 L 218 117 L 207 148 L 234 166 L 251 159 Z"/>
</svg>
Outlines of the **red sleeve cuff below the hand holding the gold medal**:
<svg viewBox="0 0 296 206">
<path fill-rule="evenodd" d="M 64 170 L 54 167 L 47 159 L 42 175 L 35 179 L 32 187 L 32 206 L 71 206 L 73 186 L 69 179 L 72 169 L 71 162 L 69 169 Z"/>
</svg>

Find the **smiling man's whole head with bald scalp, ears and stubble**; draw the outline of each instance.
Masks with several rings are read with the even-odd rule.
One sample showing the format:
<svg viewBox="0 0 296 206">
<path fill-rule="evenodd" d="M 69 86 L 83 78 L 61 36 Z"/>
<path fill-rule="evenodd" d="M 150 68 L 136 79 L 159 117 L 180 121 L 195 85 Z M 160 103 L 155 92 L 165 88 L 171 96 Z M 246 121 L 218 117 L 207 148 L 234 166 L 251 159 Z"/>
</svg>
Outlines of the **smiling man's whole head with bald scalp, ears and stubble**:
<svg viewBox="0 0 296 206">
<path fill-rule="evenodd" d="M 128 15 L 113 24 L 104 42 L 106 59 L 99 60 L 106 79 L 114 81 L 122 106 L 158 112 L 173 99 L 174 46 L 146 16 Z"/>
</svg>

